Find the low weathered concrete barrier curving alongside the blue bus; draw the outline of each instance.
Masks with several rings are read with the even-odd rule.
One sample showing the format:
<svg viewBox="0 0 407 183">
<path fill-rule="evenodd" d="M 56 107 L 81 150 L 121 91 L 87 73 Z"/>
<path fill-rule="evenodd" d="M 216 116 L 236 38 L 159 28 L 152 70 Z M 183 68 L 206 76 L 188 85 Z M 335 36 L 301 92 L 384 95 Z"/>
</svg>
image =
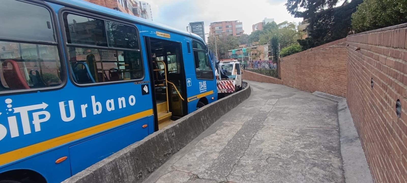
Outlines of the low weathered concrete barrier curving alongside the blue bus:
<svg viewBox="0 0 407 183">
<path fill-rule="evenodd" d="M 143 140 L 127 146 L 63 183 L 141 183 L 173 154 L 204 132 L 221 116 L 249 98 L 251 88 L 188 114 Z"/>
</svg>

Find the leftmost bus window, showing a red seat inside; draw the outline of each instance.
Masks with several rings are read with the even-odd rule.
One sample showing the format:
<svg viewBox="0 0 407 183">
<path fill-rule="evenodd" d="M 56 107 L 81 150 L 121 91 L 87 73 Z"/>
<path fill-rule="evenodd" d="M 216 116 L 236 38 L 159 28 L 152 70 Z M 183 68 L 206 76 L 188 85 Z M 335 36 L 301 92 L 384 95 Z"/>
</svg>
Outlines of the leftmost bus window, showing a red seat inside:
<svg viewBox="0 0 407 183">
<path fill-rule="evenodd" d="M 2 18 L 0 29 L 4 38 L 0 41 L 0 90 L 61 86 L 58 76 L 64 73 L 59 70 L 61 62 L 50 11 L 35 4 L 4 0 L 0 17 L 7 17 Z"/>
</svg>

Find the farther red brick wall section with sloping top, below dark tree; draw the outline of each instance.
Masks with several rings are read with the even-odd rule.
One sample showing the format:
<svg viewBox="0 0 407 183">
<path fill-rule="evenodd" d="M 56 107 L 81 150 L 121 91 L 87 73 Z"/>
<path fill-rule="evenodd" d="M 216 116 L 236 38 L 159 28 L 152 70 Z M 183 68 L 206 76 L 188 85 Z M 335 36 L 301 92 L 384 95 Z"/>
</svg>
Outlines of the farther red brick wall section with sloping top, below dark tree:
<svg viewBox="0 0 407 183">
<path fill-rule="evenodd" d="M 281 58 L 284 85 L 346 96 L 346 39 Z"/>
</svg>

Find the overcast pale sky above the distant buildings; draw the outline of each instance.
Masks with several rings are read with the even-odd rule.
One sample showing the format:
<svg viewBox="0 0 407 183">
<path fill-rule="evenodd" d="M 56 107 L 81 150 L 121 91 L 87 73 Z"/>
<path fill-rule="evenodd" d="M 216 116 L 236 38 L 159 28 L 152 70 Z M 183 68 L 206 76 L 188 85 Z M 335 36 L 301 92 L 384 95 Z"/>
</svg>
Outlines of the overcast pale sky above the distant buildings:
<svg viewBox="0 0 407 183">
<path fill-rule="evenodd" d="M 239 20 L 245 34 L 252 32 L 252 25 L 265 17 L 300 22 L 289 14 L 284 4 L 287 0 L 146 0 L 151 4 L 153 21 L 186 30 L 189 22 L 204 21 L 205 33 L 211 22 Z"/>
</svg>

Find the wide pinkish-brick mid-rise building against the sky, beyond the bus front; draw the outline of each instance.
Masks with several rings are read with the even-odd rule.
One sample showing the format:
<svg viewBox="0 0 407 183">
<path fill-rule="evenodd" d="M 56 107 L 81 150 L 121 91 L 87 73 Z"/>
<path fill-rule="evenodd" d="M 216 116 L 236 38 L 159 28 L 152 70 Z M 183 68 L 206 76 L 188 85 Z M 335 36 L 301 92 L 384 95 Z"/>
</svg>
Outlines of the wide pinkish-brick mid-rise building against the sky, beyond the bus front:
<svg viewBox="0 0 407 183">
<path fill-rule="evenodd" d="M 245 32 L 243 30 L 243 22 L 239 22 L 239 20 L 210 23 L 210 35 L 219 34 L 219 36 L 241 36 L 243 32 Z"/>
</svg>

